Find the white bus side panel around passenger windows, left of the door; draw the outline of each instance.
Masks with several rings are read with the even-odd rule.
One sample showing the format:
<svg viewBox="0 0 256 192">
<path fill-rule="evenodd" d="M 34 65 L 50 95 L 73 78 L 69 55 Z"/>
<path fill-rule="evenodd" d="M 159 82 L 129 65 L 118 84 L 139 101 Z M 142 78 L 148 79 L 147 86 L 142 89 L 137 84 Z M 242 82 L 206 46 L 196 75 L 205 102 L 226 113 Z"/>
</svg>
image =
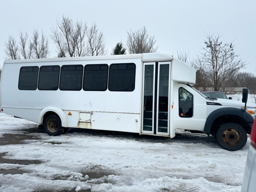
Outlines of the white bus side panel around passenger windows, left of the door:
<svg viewBox="0 0 256 192">
<path fill-rule="evenodd" d="M 135 63 L 136 77 L 135 89 L 132 92 L 116 91 L 62 91 L 62 90 L 19 90 L 18 80 L 22 66 L 46 66 L 46 65 L 83 65 L 86 64 L 114 64 Z M 92 114 L 91 128 L 98 130 L 116 130 L 125 132 L 138 132 L 140 127 L 141 108 L 141 58 L 118 58 L 108 60 L 76 60 L 76 61 L 52 61 L 52 62 L 24 62 L 8 63 L 4 65 L 1 84 L 1 105 L 3 112 L 42 123 L 41 110 L 48 108 L 53 111 L 59 108 L 62 112 L 72 110 L 90 112 Z M 52 109 L 52 110 L 51 110 Z M 40 116 L 41 113 L 41 116 Z M 77 127 L 79 122 L 77 115 L 67 116 L 57 113 L 62 119 L 62 126 Z M 63 116 L 63 117 L 62 117 Z M 64 121 L 66 116 L 67 122 Z M 120 120 L 117 117 L 120 116 Z M 68 120 L 72 118 L 72 120 Z M 136 120 L 138 122 L 136 122 Z M 84 128 L 88 128 L 85 126 Z"/>
</svg>

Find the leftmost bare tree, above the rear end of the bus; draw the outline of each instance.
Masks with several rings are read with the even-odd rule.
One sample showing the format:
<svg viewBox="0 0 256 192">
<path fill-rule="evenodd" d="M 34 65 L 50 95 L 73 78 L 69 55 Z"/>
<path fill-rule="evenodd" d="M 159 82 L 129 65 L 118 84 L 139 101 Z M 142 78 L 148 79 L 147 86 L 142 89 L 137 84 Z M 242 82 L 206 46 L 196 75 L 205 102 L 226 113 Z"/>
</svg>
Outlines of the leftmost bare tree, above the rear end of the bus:
<svg viewBox="0 0 256 192">
<path fill-rule="evenodd" d="M 16 43 L 16 40 L 14 36 L 9 35 L 9 38 L 7 42 L 4 42 L 5 49 L 4 49 L 4 54 L 5 54 L 5 59 L 7 60 L 15 60 L 15 59 L 20 59 L 20 54 L 18 52 L 18 45 Z"/>
</svg>

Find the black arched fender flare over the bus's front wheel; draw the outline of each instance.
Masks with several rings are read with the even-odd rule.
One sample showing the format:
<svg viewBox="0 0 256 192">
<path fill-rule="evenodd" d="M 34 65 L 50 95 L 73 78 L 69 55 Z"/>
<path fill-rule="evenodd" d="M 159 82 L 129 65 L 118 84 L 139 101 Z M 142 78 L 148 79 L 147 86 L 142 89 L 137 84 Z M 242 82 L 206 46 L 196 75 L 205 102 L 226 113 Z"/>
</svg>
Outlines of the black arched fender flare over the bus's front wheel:
<svg viewBox="0 0 256 192">
<path fill-rule="evenodd" d="M 252 123 L 254 121 L 253 117 L 246 111 L 239 109 L 239 108 L 233 108 L 233 107 L 225 107 L 225 108 L 220 108 L 212 113 L 207 117 L 206 122 L 204 124 L 204 132 L 206 134 L 210 134 L 212 124 L 216 120 L 216 118 L 223 116 L 223 115 L 235 115 L 235 116 L 240 116 L 244 122 L 248 124 L 250 129 L 252 129 Z"/>
</svg>

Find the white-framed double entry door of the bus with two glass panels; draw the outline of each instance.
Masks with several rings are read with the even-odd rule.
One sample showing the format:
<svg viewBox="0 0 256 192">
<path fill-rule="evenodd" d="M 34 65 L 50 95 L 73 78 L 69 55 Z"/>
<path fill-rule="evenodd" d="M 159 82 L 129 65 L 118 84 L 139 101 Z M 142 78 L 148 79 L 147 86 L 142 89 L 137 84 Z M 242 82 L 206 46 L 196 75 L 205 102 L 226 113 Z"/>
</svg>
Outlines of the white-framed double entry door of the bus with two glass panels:
<svg viewBox="0 0 256 192">
<path fill-rule="evenodd" d="M 169 135 L 171 62 L 143 64 L 142 133 Z"/>
</svg>

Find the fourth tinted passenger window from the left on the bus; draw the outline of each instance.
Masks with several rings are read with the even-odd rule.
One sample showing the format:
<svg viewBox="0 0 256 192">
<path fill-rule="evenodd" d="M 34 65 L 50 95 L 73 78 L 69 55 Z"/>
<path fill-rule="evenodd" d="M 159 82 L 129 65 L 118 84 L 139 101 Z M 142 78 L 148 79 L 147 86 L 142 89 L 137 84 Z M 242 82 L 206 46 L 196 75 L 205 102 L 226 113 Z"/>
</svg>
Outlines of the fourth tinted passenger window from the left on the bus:
<svg viewBox="0 0 256 192">
<path fill-rule="evenodd" d="M 84 67 L 85 91 L 106 91 L 108 84 L 108 65 L 96 64 Z"/>
</svg>

